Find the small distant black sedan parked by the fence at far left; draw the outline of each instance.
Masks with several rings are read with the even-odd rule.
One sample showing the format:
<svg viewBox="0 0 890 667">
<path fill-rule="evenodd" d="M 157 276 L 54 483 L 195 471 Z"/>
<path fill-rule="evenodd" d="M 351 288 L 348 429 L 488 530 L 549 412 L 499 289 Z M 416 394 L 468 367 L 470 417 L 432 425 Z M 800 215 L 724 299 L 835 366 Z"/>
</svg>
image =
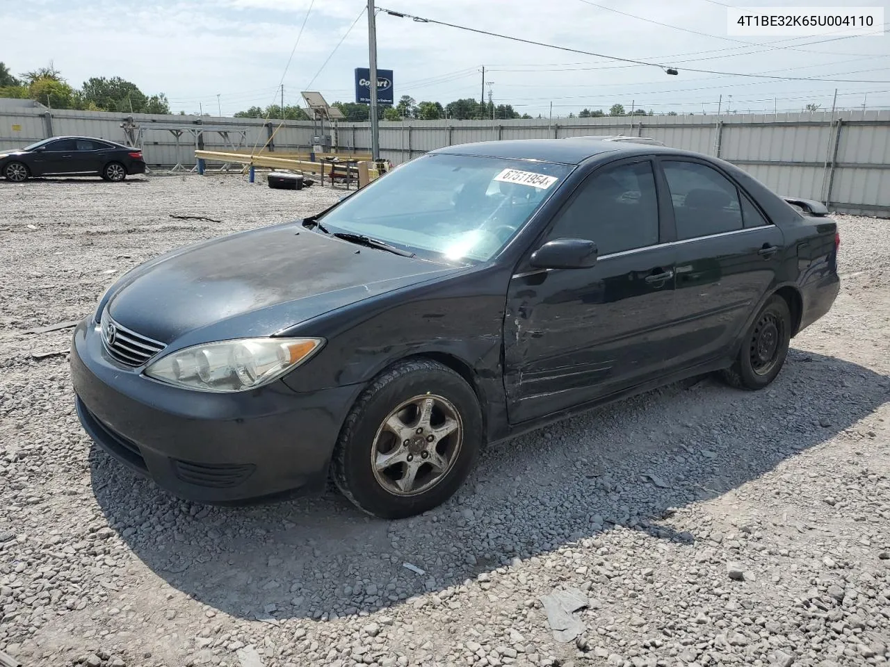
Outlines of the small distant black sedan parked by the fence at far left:
<svg viewBox="0 0 890 667">
<path fill-rule="evenodd" d="M 20 183 L 31 176 L 99 175 L 123 181 L 145 173 L 142 150 L 91 137 L 52 137 L 23 149 L 0 150 L 0 174 Z"/>
</svg>

